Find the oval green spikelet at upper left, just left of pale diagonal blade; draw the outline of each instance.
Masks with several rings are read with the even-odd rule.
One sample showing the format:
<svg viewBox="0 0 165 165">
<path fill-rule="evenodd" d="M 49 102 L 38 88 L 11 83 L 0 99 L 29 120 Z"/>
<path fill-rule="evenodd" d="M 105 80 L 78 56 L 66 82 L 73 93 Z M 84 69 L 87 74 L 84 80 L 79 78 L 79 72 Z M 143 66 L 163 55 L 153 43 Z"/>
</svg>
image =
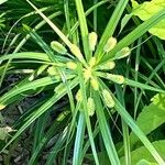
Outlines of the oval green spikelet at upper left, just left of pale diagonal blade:
<svg viewBox="0 0 165 165">
<path fill-rule="evenodd" d="M 51 47 L 59 54 L 67 53 L 67 50 L 61 43 L 58 43 L 56 41 L 51 42 Z"/>
</svg>

